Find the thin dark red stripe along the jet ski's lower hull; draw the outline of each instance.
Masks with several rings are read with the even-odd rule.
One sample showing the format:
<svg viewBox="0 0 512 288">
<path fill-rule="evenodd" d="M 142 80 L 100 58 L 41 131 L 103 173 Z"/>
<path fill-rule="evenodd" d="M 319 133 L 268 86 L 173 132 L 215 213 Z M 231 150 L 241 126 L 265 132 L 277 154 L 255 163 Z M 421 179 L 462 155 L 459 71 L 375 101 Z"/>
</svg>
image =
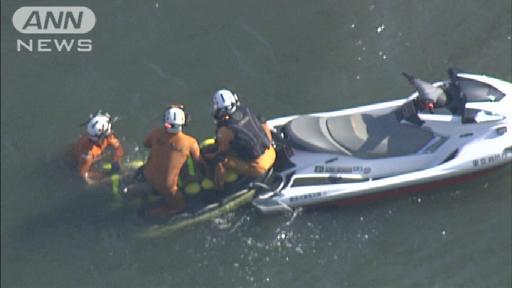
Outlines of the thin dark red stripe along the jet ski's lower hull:
<svg viewBox="0 0 512 288">
<path fill-rule="evenodd" d="M 479 178 L 481 176 L 489 174 L 490 172 L 492 172 L 494 170 L 502 168 L 506 165 L 507 164 L 504 164 L 504 165 L 492 167 L 492 168 L 489 168 L 486 170 L 481 170 L 481 171 L 477 171 L 477 172 L 473 172 L 473 173 L 469 173 L 469 174 L 455 176 L 452 178 L 447 178 L 447 179 L 442 179 L 442 180 L 437 180 L 437 181 L 432 181 L 432 182 L 426 182 L 426 183 L 421 183 L 421 184 L 415 184 L 412 186 L 406 186 L 406 187 L 391 189 L 391 190 L 387 190 L 387 191 L 386 190 L 379 191 L 379 192 L 375 192 L 375 193 L 371 193 L 371 194 L 367 194 L 367 195 L 356 196 L 356 197 L 341 199 L 341 200 L 337 200 L 337 201 L 309 205 L 305 208 L 316 208 L 316 207 L 322 207 L 322 206 L 357 205 L 357 204 L 381 200 L 384 198 L 399 197 L 399 196 L 404 196 L 404 195 L 412 194 L 412 193 L 418 193 L 418 192 L 422 192 L 422 191 L 426 191 L 426 190 L 438 189 L 438 188 L 446 187 L 446 186 L 453 185 L 453 184 L 461 184 L 466 181 Z"/>
</svg>

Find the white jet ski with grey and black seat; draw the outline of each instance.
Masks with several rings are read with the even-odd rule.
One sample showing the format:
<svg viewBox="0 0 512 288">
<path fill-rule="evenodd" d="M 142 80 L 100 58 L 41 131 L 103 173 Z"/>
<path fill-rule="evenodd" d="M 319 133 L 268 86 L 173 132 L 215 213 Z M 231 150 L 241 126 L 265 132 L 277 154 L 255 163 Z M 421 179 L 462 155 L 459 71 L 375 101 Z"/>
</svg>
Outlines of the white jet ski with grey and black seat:
<svg viewBox="0 0 512 288">
<path fill-rule="evenodd" d="M 264 213 L 381 198 L 512 161 L 512 83 L 449 71 L 403 100 L 268 121 L 278 160 Z M 425 187 L 423 187 L 425 188 Z"/>
</svg>

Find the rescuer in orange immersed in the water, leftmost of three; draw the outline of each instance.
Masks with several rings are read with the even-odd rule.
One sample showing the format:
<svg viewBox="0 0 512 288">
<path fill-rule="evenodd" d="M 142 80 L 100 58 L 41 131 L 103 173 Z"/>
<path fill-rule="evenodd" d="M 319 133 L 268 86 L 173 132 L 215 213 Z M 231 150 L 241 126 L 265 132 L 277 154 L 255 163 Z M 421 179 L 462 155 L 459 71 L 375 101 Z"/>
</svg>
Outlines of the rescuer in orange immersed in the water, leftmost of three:
<svg viewBox="0 0 512 288">
<path fill-rule="evenodd" d="M 108 148 L 113 148 L 112 171 L 119 172 L 124 150 L 119 139 L 112 132 L 112 117 L 98 113 L 87 122 L 87 134 L 80 137 L 76 145 L 76 158 L 80 176 L 89 185 L 109 179 L 105 173 L 93 170 L 95 162 L 102 159 Z"/>
</svg>

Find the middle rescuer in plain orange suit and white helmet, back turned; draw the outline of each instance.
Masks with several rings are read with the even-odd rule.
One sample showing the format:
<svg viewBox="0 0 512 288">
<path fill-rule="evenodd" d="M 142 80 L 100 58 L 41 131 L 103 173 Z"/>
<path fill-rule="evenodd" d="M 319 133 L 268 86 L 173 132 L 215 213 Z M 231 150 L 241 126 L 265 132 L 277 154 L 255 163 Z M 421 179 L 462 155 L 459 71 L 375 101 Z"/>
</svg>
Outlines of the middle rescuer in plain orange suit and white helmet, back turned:
<svg viewBox="0 0 512 288">
<path fill-rule="evenodd" d="M 137 193 L 156 190 L 164 197 L 162 205 L 146 211 L 150 217 L 169 217 L 186 208 L 178 189 L 181 168 L 189 156 L 202 162 L 197 140 L 183 132 L 186 124 L 183 106 L 172 105 L 165 110 L 163 127 L 153 129 L 144 140 L 144 146 L 151 149 L 150 154 L 135 174 L 139 186 L 132 187 Z"/>
</svg>

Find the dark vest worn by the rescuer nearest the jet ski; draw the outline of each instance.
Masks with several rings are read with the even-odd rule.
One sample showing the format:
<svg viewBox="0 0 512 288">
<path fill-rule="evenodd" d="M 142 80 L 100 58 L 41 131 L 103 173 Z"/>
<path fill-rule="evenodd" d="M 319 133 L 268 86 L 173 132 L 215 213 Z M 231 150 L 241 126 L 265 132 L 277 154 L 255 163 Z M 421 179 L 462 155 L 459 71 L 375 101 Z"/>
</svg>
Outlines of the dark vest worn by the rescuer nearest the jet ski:
<svg viewBox="0 0 512 288">
<path fill-rule="evenodd" d="M 255 160 L 267 150 L 271 143 L 265 130 L 247 107 L 238 106 L 229 119 L 219 122 L 219 126 L 231 128 L 235 138 L 231 141 L 231 150 L 243 160 Z"/>
</svg>

